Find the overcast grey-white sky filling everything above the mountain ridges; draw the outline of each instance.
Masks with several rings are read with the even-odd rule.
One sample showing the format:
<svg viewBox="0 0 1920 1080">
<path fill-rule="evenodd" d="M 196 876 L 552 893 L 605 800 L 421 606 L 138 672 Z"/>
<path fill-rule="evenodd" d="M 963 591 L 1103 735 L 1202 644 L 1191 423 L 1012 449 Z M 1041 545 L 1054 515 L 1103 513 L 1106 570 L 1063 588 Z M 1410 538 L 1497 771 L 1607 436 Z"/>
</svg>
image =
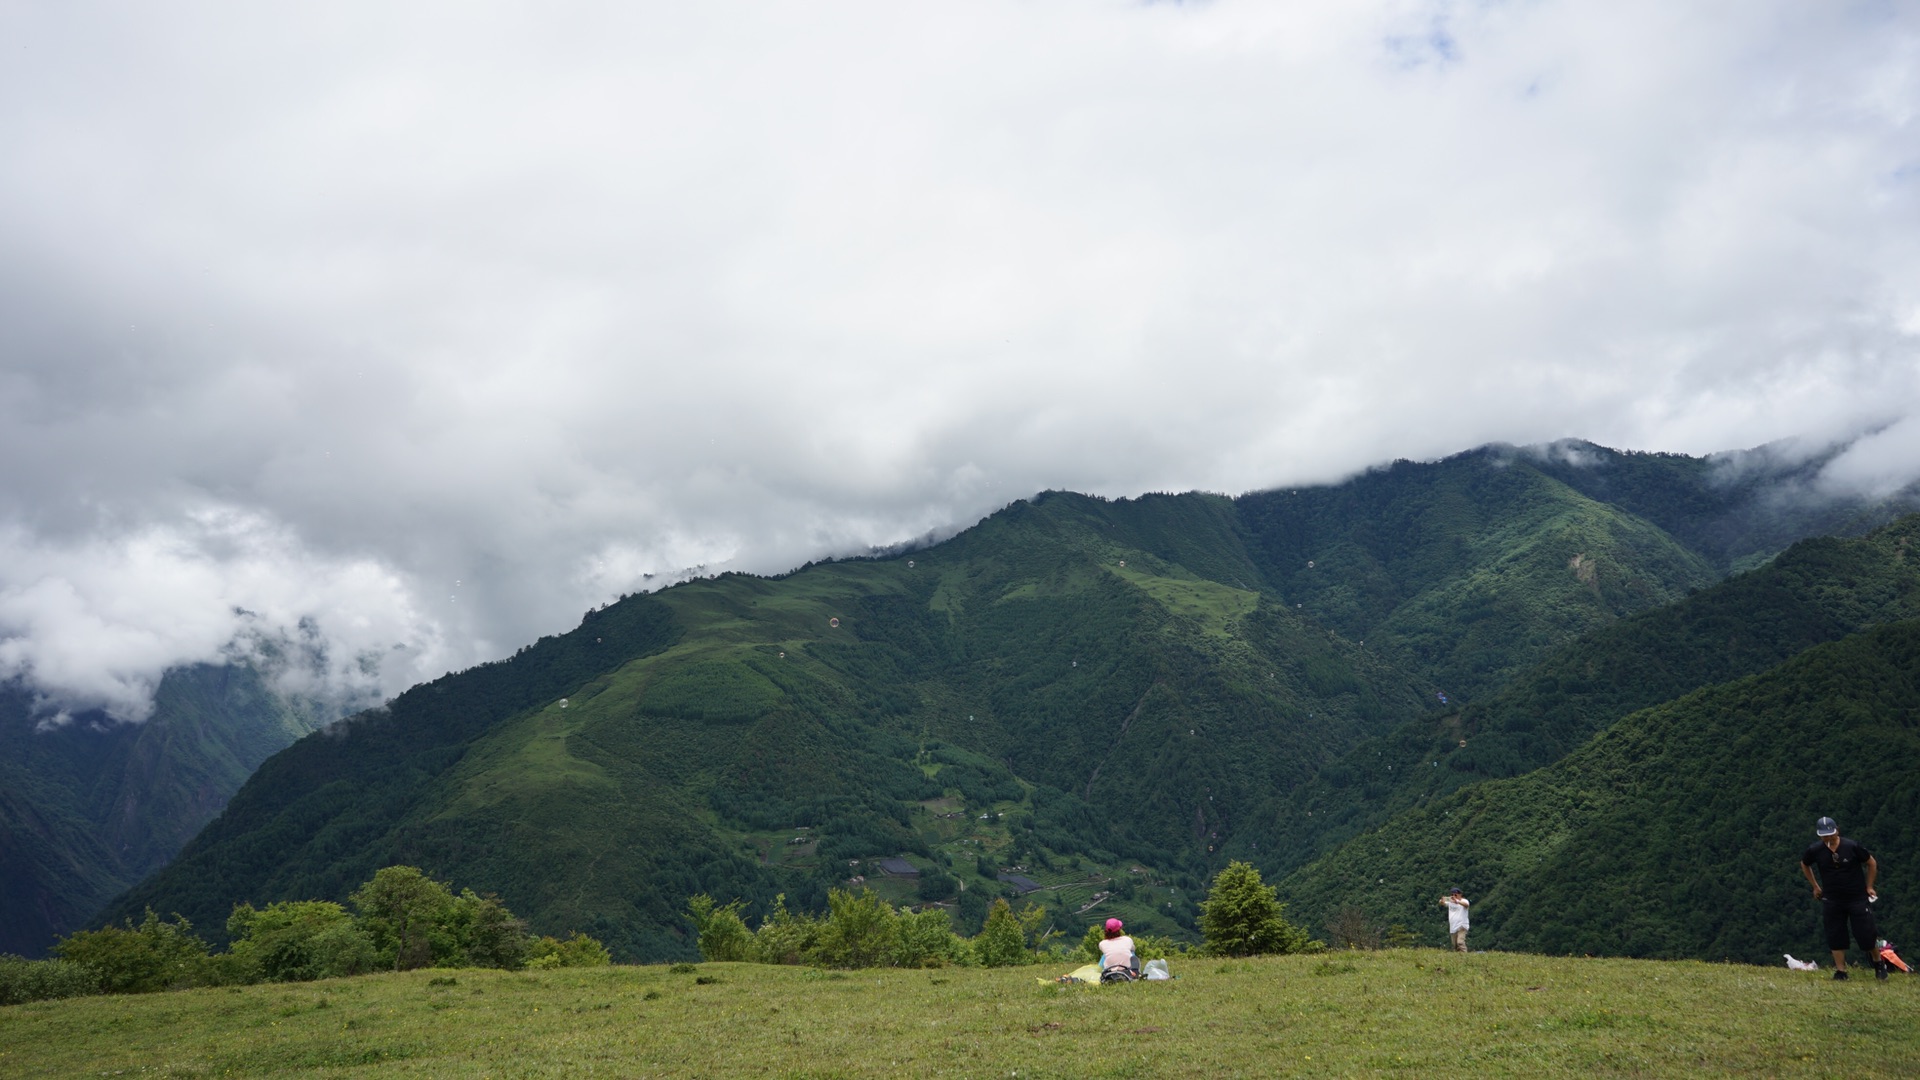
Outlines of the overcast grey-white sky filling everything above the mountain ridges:
<svg viewBox="0 0 1920 1080">
<path fill-rule="evenodd" d="M 1903 2 L 0 2 L 0 675 L 1490 440 L 1897 484 L 1916 104 Z"/>
</svg>

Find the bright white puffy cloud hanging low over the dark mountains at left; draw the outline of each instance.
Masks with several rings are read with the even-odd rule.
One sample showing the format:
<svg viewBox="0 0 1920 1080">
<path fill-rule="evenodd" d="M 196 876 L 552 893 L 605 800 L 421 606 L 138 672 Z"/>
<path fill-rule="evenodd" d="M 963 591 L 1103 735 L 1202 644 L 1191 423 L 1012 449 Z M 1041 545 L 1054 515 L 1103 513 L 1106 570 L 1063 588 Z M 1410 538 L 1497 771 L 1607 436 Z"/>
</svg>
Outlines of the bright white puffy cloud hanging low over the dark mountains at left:
<svg viewBox="0 0 1920 1080">
<path fill-rule="evenodd" d="M 374 559 L 323 559 L 257 513 L 46 544 L 0 532 L 0 678 L 60 713 L 146 719 L 159 673 L 250 657 L 296 692 L 372 701 L 447 655 L 407 584 Z"/>
</svg>

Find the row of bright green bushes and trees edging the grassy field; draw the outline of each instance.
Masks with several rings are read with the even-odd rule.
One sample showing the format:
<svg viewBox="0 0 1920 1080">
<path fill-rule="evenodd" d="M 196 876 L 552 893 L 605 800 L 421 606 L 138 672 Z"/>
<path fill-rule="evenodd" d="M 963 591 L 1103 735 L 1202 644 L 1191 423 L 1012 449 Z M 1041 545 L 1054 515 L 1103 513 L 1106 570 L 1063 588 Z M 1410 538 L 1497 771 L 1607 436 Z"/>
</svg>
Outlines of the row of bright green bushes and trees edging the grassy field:
<svg viewBox="0 0 1920 1080">
<path fill-rule="evenodd" d="M 453 892 L 417 867 L 386 867 L 348 897 L 351 911 L 324 899 L 290 899 L 255 909 L 234 905 L 232 945 L 209 951 L 192 924 L 148 911 L 140 922 L 81 930 L 54 945 L 58 959 L 0 957 L 0 1005 L 86 994 L 152 994 L 194 986 L 305 982 L 422 967 L 507 970 L 603 967 L 607 947 L 586 934 L 536 938 L 492 896 Z M 1098 957 L 1100 928 L 1079 942 L 1043 928 L 1046 909 L 1023 911 L 995 899 L 981 932 L 952 932 L 947 911 L 895 909 L 872 890 L 831 890 L 824 915 L 774 909 L 753 930 L 745 901 L 693 896 L 687 917 L 708 961 L 866 967 L 1012 967 Z M 1200 905 L 1198 953 L 1248 957 L 1311 953 L 1323 945 L 1286 920 L 1273 890 L 1248 863 L 1231 863 Z M 1185 953 L 1171 938 L 1135 936 L 1140 959 Z"/>
</svg>

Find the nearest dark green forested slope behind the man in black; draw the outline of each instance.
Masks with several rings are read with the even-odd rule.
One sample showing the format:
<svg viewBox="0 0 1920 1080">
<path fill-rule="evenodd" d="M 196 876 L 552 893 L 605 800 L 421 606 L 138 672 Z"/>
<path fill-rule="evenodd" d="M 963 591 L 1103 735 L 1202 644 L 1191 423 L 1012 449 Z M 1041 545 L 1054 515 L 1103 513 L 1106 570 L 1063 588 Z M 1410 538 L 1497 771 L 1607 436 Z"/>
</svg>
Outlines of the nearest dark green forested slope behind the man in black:
<svg viewBox="0 0 1920 1080">
<path fill-rule="evenodd" d="M 1920 621 L 1878 626 L 1407 811 L 1281 890 L 1304 913 L 1356 907 L 1438 938 L 1436 897 L 1461 884 L 1484 947 L 1778 963 L 1822 955 L 1797 859 L 1834 815 L 1880 857 L 1882 934 L 1910 942 L 1916 701 Z"/>
</svg>

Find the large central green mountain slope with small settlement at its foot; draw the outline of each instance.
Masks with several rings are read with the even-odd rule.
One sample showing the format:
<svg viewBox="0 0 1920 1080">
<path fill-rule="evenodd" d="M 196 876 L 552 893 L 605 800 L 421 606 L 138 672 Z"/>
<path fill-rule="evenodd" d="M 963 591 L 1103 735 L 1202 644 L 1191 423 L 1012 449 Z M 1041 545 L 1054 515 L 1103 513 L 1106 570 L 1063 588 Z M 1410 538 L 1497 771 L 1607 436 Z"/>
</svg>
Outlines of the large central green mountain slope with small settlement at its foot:
<svg viewBox="0 0 1920 1080">
<path fill-rule="evenodd" d="M 970 886 L 962 917 L 1000 867 L 1146 861 L 1187 884 L 1152 899 L 1177 928 L 1240 809 L 1428 698 L 1240 588 L 1233 509 L 1043 496 L 910 555 L 622 600 L 276 755 L 115 915 L 217 926 L 413 861 L 682 955 L 691 892 L 818 903 L 908 855 Z"/>
</svg>

